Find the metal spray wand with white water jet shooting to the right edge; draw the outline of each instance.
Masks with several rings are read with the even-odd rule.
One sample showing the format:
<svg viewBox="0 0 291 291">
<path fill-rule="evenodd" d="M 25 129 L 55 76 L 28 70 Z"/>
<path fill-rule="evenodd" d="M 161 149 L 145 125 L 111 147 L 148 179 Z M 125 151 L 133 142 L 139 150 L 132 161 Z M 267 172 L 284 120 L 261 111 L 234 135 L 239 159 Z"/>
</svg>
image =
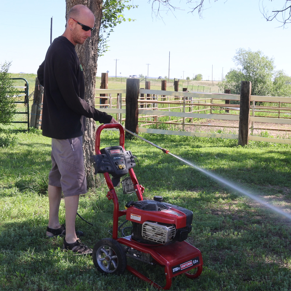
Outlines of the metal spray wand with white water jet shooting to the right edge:
<svg viewBox="0 0 291 291">
<path fill-rule="evenodd" d="M 205 170 L 205 169 L 203 169 L 203 168 L 200 168 L 199 166 L 196 166 L 195 164 L 193 164 L 193 163 L 191 163 L 191 162 L 189 162 L 189 161 L 187 161 L 187 160 L 185 160 L 185 159 L 182 159 L 181 157 L 178 157 L 178 156 L 172 154 L 172 153 L 169 152 L 168 150 L 159 147 L 158 145 L 156 145 L 156 144 L 154 144 L 154 143 L 152 143 L 152 142 L 150 142 L 150 141 L 148 141 L 148 140 L 142 138 L 141 136 L 138 136 L 137 134 L 135 134 L 135 133 L 129 131 L 128 129 L 125 129 L 125 128 L 124 128 L 124 130 L 125 130 L 126 132 L 128 132 L 128 133 L 130 133 L 130 134 L 132 134 L 132 135 L 134 135 L 134 136 L 136 136 L 136 137 L 138 137 L 139 139 L 142 139 L 143 141 L 145 141 L 145 142 L 147 142 L 147 143 L 149 143 L 149 144 L 155 146 L 156 148 L 162 150 L 165 154 L 169 154 L 169 155 L 175 157 L 176 159 L 179 159 L 180 161 L 184 162 L 185 164 L 188 164 L 189 166 L 191 166 L 191 167 L 195 168 L 196 170 L 198 170 L 198 171 L 204 173 L 205 175 L 207 175 L 207 176 L 213 178 L 214 180 L 217 180 L 219 183 L 226 185 L 228 188 L 233 189 L 233 190 L 235 190 L 235 191 L 237 191 L 237 192 L 239 192 L 239 193 L 241 193 L 241 194 L 243 194 L 243 195 L 246 195 L 246 196 L 250 197 L 250 198 L 253 199 L 253 200 L 256 200 L 256 201 L 259 202 L 260 204 L 265 205 L 266 207 L 272 209 L 273 211 L 275 211 L 275 212 L 277 212 L 277 213 L 279 213 L 279 214 L 281 214 L 281 215 L 283 215 L 283 216 L 285 216 L 285 217 L 287 217 L 288 219 L 291 220 L 291 215 L 288 214 L 287 212 L 284 212 L 284 211 L 281 210 L 280 208 L 278 208 L 278 207 L 276 207 L 276 206 L 273 206 L 273 205 L 267 203 L 266 201 L 264 201 L 263 199 L 261 199 L 261 198 L 255 196 L 255 195 L 251 194 L 250 192 L 248 192 L 248 191 L 246 191 L 246 190 L 244 190 L 244 189 L 238 187 L 238 186 L 237 186 L 236 184 L 234 184 L 233 182 L 230 182 L 230 181 L 228 181 L 228 180 L 226 180 L 226 179 L 224 179 L 224 178 L 222 178 L 222 177 L 219 177 L 218 175 L 215 175 L 215 174 L 211 173 L 210 171 L 207 171 L 207 170 Z"/>
</svg>

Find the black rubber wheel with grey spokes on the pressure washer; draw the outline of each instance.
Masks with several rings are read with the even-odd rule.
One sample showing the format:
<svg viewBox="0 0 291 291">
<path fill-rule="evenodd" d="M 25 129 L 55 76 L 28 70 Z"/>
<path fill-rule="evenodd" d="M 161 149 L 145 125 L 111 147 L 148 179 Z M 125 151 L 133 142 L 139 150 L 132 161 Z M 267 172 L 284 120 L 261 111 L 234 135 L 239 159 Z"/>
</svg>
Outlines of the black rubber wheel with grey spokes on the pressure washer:
<svg viewBox="0 0 291 291">
<path fill-rule="evenodd" d="M 104 238 L 93 248 L 93 263 L 104 274 L 123 274 L 126 268 L 126 255 L 123 247 L 112 238 Z"/>
</svg>

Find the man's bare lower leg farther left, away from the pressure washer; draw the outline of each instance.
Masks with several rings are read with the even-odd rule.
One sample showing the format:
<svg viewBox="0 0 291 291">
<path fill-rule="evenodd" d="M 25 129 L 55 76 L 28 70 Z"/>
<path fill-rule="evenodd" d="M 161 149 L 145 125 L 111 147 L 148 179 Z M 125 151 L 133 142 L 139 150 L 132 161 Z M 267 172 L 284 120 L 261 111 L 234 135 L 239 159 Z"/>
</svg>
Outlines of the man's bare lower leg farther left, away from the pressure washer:
<svg viewBox="0 0 291 291">
<path fill-rule="evenodd" d="M 49 196 L 49 228 L 58 229 L 61 227 L 58 220 L 58 211 L 61 203 L 62 188 L 51 186 L 48 187 Z M 47 235 L 51 236 L 53 233 L 47 231 Z"/>
</svg>

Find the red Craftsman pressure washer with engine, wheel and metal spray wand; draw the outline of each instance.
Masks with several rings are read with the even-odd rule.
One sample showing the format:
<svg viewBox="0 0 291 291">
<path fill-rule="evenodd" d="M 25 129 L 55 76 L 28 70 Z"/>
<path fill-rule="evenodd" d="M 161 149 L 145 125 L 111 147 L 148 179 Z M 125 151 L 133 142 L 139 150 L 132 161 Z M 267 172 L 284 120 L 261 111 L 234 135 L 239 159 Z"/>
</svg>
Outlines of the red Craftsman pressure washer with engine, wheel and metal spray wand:
<svg viewBox="0 0 291 291">
<path fill-rule="evenodd" d="M 119 145 L 100 149 L 100 134 L 103 129 L 119 129 Z M 133 171 L 135 157 L 124 148 L 124 129 L 119 123 L 103 124 L 98 127 L 95 135 L 95 152 L 91 156 L 95 174 L 103 173 L 109 191 L 108 200 L 113 201 L 113 231 L 112 238 L 98 241 L 93 248 L 93 262 L 101 273 L 123 274 L 125 269 L 150 283 L 154 287 L 162 287 L 153 282 L 133 267 L 127 265 L 127 258 L 133 258 L 150 265 L 164 267 L 166 285 L 171 287 L 172 278 L 185 273 L 187 278 L 197 278 L 202 272 L 203 260 L 201 252 L 185 240 L 191 232 L 193 213 L 184 207 L 162 202 L 162 196 L 153 200 L 143 200 L 144 187 L 139 184 Z M 159 148 L 164 153 L 168 150 L 143 139 Z M 119 210 L 119 203 L 114 187 L 120 184 L 120 178 L 129 173 L 122 181 L 125 193 L 135 192 L 137 201 L 129 201 L 125 210 Z M 110 177 L 111 176 L 111 177 Z M 131 191 L 132 190 L 132 191 Z M 118 218 L 126 216 L 126 222 L 132 223 L 131 235 L 118 237 Z M 188 273 L 196 268 L 194 274 Z"/>
</svg>

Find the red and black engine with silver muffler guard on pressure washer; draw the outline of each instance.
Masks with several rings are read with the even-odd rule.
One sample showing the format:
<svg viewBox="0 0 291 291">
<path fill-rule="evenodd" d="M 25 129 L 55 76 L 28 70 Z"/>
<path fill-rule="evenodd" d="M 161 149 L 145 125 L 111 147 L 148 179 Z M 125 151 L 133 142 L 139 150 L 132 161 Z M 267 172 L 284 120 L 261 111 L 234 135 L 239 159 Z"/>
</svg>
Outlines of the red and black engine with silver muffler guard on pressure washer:
<svg viewBox="0 0 291 291">
<path fill-rule="evenodd" d="M 132 239 L 146 244 L 182 242 L 192 229 L 193 212 L 155 200 L 130 201 L 126 219 L 132 221 Z"/>
</svg>

